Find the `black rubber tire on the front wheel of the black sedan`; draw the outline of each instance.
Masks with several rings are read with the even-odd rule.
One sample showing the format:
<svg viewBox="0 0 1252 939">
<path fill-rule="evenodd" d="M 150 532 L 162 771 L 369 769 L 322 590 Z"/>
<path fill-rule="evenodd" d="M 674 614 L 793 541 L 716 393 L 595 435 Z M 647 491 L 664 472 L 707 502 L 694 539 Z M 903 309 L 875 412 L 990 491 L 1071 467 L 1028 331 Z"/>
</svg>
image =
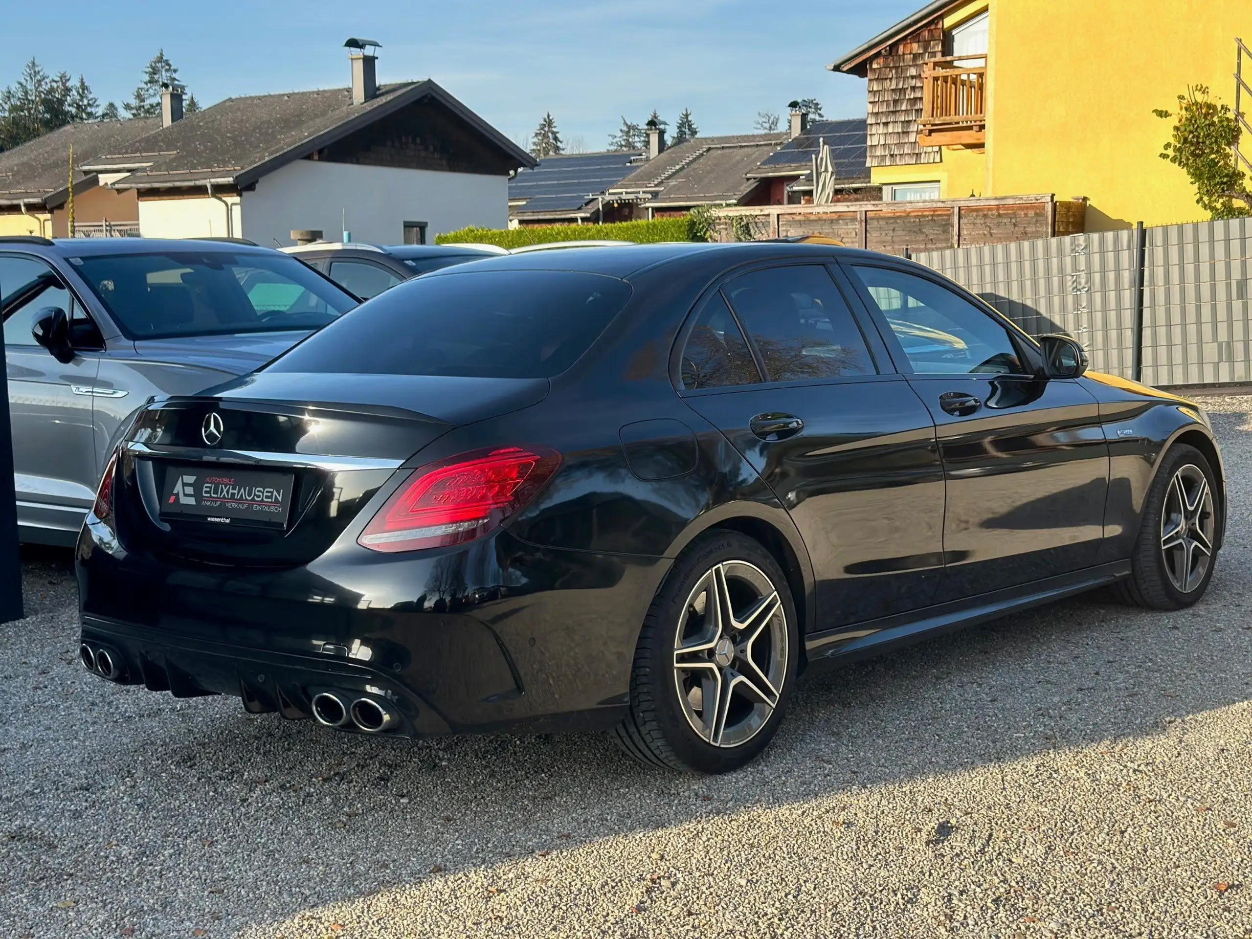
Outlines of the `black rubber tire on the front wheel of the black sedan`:
<svg viewBox="0 0 1252 939">
<path fill-rule="evenodd" d="M 1183 590 L 1176 582 L 1183 578 L 1179 566 L 1177 562 L 1171 565 L 1162 545 L 1164 541 L 1162 518 L 1174 517 L 1171 507 L 1177 505 L 1177 497 L 1171 495 L 1171 488 L 1176 477 L 1183 473 L 1184 480 L 1188 477 L 1196 480 L 1193 470 L 1203 476 L 1208 486 L 1211 507 L 1207 518 L 1211 523 L 1206 523 L 1203 527 L 1211 531 L 1207 538 L 1211 551 L 1203 571 L 1188 568 L 1188 576 L 1193 577 L 1194 582 L 1186 583 L 1187 588 Z M 1217 562 L 1216 536 L 1222 531 L 1222 507 L 1218 492 L 1213 468 L 1198 449 L 1178 444 L 1166 453 L 1144 501 L 1139 537 L 1134 543 L 1134 553 L 1131 556 L 1132 573 L 1116 587 L 1117 595 L 1124 602 L 1147 610 L 1182 610 L 1204 596 Z M 1177 556 L 1177 551 L 1174 551 L 1174 556 Z"/>
</svg>

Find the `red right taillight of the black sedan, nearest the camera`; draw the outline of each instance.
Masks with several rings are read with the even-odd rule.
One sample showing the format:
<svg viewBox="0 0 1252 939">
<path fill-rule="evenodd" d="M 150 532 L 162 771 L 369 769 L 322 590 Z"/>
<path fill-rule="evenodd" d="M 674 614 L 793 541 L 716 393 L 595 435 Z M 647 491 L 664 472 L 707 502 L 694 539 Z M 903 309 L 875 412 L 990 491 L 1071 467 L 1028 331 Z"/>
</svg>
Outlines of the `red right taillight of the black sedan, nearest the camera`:
<svg viewBox="0 0 1252 939">
<path fill-rule="evenodd" d="M 423 467 L 401 485 L 357 543 L 371 551 L 417 551 L 473 541 L 530 502 L 561 466 L 547 447 L 461 453 Z"/>
</svg>

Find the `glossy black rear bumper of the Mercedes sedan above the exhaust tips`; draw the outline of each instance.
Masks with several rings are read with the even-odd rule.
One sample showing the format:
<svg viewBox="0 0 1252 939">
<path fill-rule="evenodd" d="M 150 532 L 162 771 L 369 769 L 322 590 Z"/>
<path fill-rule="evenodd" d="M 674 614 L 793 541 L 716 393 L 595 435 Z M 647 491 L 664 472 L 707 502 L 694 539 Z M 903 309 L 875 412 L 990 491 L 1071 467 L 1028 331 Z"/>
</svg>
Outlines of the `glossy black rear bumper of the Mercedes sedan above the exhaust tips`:
<svg viewBox="0 0 1252 939">
<path fill-rule="evenodd" d="M 227 568 L 128 553 L 94 518 L 76 563 L 83 640 L 124 661 L 121 681 L 288 717 L 318 691 L 368 695 L 407 736 L 611 726 L 667 566 L 497 532 L 442 553 L 351 546 Z"/>
</svg>

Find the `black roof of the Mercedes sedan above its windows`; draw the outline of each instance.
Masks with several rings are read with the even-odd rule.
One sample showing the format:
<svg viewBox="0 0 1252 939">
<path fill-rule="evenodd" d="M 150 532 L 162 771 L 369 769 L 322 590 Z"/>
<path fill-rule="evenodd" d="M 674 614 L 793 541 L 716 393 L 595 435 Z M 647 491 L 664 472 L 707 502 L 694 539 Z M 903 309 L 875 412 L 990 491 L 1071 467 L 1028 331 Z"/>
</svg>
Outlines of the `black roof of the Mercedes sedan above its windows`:
<svg viewBox="0 0 1252 939">
<path fill-rule="evenodd" d="M 590 274 L 629 278 L 646 268 L 670 264 L 684 259 L 700 258 L 705 262 L 721 259 L 725 267 L 746 264 L 770 258 L 806 258 L 814 262 L 835 257 L 853 259 L 884 259 L 874 252 L 839 248 L 829 244 L 788 244 L 784 242 L 739 242 L 719 244 L 709 242 L 662 242 L 660 244 L 631 244 L 605 248 L 570 248 L 568 250 L 525 252 L 475 262 L 470 268 L 458 265 L 433 270 L 424 277 L 458 277 L 487 270 L 578 270 Z M 900 260 L 899 258 L 891 258 Z"/>
</svg>

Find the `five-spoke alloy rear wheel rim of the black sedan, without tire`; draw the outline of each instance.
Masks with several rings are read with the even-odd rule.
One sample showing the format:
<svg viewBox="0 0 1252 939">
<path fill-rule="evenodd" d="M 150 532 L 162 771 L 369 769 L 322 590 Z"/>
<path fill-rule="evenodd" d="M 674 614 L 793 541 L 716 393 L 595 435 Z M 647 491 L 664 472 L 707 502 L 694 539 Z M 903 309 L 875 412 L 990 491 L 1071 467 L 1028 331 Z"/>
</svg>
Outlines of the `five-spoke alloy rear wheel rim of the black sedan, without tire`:
<svg viewBox="0 0 1252 939">
<path fill-rule="evenodd" d="M 777 591 L 746 561 L 714 565 L 696 583 L 674 642 L 674 681 L 691 729 L 714 746 L 756 736 L 786 675 Z"/>
</svg>

